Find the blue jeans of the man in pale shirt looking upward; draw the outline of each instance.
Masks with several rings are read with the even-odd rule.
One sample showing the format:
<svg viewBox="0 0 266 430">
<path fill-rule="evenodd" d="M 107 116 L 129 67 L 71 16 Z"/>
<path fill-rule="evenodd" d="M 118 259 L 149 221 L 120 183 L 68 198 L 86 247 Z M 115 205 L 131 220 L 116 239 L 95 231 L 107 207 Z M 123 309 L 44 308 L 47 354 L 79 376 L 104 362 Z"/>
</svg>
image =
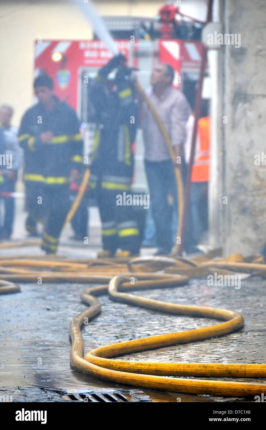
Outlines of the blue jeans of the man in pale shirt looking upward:
<svg viewBox="0 0 266 430">
<path fill-rule="evenodd" d="M 159 248 L 170 252 L 173 246 L 171 234 L 171 208 L 168 204 L 168 194 L 174 198 L 177 206 L 174 169 L 171 160 L 145 160 L 147 180 L 152 201 L 153 219 L 156 226 L 157 243 Z"/>
</svg>

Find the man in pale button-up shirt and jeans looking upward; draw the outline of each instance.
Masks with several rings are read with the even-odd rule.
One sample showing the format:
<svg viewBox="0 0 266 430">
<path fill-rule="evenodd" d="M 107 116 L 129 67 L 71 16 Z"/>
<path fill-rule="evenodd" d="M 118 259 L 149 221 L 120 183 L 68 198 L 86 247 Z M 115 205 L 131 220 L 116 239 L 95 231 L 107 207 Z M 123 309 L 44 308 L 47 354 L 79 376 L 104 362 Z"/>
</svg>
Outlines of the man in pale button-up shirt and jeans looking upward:
<svg viewBox="0 0 266 430">
<path fill-rule="evenodd" d="M 173 80 L 174 70 L 169 64 L 156 64 L 151 74 L 151 88 L 147 90 L 147 95 L 162 118 L 171 138 L 174 153 L 177 157 L 181 157 L 180 166 L 184 169 L 183 143 L 186 139 L 190 105 L 183 93 L 173 88 Z M 171 235 L 171 211 L 168 204 L 168 194 L 172 195 L 175 203 L 177 200 L 174 168 L 159 126 L 146 104 L 143 104 L 141 116 L 145 168 L 159 246 L 157 254 L 168 254 L 174 244 Z"/>
</svg>

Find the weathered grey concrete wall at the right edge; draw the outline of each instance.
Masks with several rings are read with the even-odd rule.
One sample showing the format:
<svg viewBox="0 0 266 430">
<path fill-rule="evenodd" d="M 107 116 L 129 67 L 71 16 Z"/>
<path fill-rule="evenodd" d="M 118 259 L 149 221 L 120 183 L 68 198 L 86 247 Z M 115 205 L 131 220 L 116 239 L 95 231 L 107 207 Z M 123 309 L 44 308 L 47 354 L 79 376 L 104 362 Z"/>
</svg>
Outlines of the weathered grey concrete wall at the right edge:
<svg viewBox="0 0 266 430">
<path fill-rule="evenodd" d="M 220 8 L 223 33 L 241 34 L 240 48 L 220 50 L 220 243 L 225 255 L 251 255 L 266 243 L 266 166 L 254 163 L 266 154 L 266 2 L 222 0 Z"/>
</svg>

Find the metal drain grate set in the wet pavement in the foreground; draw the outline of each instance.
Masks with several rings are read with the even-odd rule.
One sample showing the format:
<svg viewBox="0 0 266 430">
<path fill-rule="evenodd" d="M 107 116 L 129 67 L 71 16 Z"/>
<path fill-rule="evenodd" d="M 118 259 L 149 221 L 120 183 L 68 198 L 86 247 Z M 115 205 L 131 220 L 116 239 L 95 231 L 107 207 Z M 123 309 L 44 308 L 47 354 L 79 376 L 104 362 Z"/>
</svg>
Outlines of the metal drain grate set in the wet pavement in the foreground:
<svg viewBox="0 0 266 430">
<path fill-rule="evenodd" d="M 71 402 L 150 402 L 150 396 L 140 390 L 108 390 L 101 391 L 84 391 L 82 393 L 71 391 L 62 395 L 64 400 Z"/>
</svg>

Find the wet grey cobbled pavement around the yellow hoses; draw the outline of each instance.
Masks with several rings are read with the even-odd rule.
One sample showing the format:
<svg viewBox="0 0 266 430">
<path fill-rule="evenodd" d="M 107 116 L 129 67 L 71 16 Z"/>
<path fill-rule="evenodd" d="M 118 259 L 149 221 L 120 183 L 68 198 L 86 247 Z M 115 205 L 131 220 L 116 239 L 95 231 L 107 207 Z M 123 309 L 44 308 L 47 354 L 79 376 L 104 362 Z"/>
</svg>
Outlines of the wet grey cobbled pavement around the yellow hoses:
<svg viewBox="0 0 266 430">
<path fill-rule="evenodd" d="M 15 254 L 21 251 L 17 249 Z M 27 252 L 32 255 L 33 251 L 28 249 Z M 67 248 L 64 248 L 64 252 L 68 254 Z M 83 254 L 83 258 L 86 257 L 84 245 L 83 252 L 82 248 L 77 248 L 76 254 L 72 255 L 76 257 L 79 253 Z M 233 286 L 212 287 L 207 285 L 207 279 L 192 279 L 187 286 L 138 292 L 138 295 L 178 304 L 235 310 L 242 313 L 245 325 L 238 332 L 220 338 L 134 353 L 124 358 L 156 362 L 265 362 L 265 287 L 266 280 L 259 277 L 242 280 L 240 289 L 234 289 Z M 21 284 L 21 293 L 0 297 L 0 395 L 12 395 L 13 401 L 83 401 L 79 393 L 84 392 L 100 393 L 99 398 L 102 393 L 124 393 L 127 401 L 176 402 L 178 398 L 183 402 L 254 401 L 164 393 L 110 384 L 72 369 L 68 330 L 73 316 L 86 308 L 79 299 L 84 288 L 84 284 Z M 174 316 L 136 308 L 113 302 L 107 296 L 99 299 L 102 303 L 101 314 L 83 329 L 85 353 L 92 348 L 119 341 L 217 323 L 217 320 L 208 318 Z M 244 381 L 242 378 L 238 380 Z M 266 384 L 266 379 L 245 381 L 263 381 Z M 68 397 L 67 393 L 72 394 Z M 73 397 L 75 393 L 76 398 Z"/>
</svg>

